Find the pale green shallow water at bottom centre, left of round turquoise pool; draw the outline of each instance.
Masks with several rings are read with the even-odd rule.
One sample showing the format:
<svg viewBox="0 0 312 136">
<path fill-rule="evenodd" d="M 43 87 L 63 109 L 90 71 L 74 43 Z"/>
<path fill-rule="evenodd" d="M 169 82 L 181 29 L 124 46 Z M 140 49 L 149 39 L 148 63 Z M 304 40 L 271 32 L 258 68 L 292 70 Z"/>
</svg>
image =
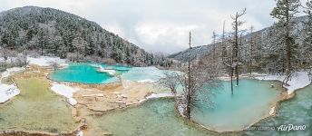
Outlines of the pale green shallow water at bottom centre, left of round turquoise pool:
<svg viewBox="0 0 312 136">
<path fill-rule="evenodd" d="M 173 99 L 154 99 L 122 111 L 92 117 L 102 131 L 116 136 L 206 136 L 216 132 L 190 126 L 174 112 Z M 91 118 L 91 117 L 89 117 Z"/>
</svg>

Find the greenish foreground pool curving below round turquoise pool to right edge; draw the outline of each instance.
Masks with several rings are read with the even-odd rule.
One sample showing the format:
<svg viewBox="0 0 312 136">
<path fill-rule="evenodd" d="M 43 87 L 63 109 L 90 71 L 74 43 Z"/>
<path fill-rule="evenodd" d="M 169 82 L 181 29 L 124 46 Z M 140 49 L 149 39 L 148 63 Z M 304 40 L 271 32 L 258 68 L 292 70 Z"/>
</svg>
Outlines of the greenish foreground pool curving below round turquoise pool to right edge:
<svg viewBox="0 0 312 136">
<path fill-rule="evenodd" d="M 103 115 L 88 116 L 96 127 L 102 131 L 109 131 L 113 135 L 302 135 L 309 136 L 312 133 L 312 85 L 297 91 L 292 100 L 281 102 L 278 114 L 263 121 L 258 121 L 253 126 L 274 127 L 275 130 L 239 131 L 219 133 L 202 130 L 198 126 L 184 121 L 177 112 L 174 112 L 175 100 L 153 99 L 122 111 L 112 111 Z M 251 111 L 249 111 L 251 112 Z M 249 114 L 244 113 L 244 115 Z M 243 116 L 244 116 L 243 115 Z M 92 118 L 92 120 L 90 120 Z M 278 131 L 280 125 L 306 125 L 305 131 Z"/>
</svg>

